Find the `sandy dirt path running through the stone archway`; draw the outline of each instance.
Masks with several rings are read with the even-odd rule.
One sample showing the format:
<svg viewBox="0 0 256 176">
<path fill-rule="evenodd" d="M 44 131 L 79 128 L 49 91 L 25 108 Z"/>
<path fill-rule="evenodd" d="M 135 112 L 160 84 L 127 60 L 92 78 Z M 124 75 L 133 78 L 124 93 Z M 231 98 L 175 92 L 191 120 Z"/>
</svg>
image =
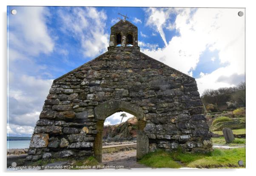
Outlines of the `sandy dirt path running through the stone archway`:
<svg viewBox="0 0 256 176">
<path fill-rule="evenodd" d="M 125 169 L 147 168 L 147 166 L 136 162 L 136 150 L 102 154 L 102 164 L 105 166 L 124 166 Z"/>
</svg>

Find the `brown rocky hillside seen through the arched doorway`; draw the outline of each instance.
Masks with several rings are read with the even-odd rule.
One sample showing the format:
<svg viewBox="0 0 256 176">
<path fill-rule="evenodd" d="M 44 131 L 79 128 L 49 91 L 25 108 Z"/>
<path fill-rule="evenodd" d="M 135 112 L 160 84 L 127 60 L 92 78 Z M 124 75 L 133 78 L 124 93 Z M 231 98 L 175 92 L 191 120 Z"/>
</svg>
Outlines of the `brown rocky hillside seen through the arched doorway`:
<svg viewBox="0 0 256 176">
<path fill-rule="evenodd" d="M 131 117 L 122 124 L 107 125 L 103 129 L 103 141 L 136 140 L 137 118 Z"/>
</svg>

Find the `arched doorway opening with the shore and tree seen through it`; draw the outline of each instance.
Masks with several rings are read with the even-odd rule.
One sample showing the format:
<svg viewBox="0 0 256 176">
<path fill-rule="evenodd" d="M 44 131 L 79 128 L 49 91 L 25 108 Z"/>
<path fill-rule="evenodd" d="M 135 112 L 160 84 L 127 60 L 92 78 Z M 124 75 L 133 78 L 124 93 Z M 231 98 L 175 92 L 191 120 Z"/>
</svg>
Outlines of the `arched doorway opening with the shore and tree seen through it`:
<svg viewBox="0 0 256 176">
<path fill-rule="evenodd" d="M 121 111 L 105 119 L 102 132 L 102 162 L 136 162 L 137 156 L 137 117 Z"/>
</svg>

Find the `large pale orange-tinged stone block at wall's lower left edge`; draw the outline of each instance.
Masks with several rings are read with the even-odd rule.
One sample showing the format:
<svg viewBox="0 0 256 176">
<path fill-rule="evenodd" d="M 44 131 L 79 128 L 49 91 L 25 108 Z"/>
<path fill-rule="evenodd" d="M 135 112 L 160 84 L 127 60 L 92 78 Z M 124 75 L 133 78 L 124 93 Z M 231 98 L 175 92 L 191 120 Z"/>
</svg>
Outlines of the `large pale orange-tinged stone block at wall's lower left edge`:
<svg viewBox="0 0 256 176">
<path fill-rule="evenodd" d="M 48 145 L 49 136 L 48 134 L 36 134 L 32 135 L 30 141 L 30 148 L 44 148 Z"/>
</svg>

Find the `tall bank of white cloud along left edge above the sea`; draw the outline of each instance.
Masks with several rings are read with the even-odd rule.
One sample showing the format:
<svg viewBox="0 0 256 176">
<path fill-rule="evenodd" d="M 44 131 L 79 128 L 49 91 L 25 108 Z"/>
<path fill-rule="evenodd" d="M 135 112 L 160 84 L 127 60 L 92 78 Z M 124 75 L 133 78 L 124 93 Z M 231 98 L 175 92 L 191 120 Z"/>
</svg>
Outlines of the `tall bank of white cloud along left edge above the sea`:
<svg viewBox="0 0 256 176">
<path fill-rule="evenodd" d="M 53 80 L 42 79 L 43 74 L 50 76 L 48 67 L 34 58 L 54 50 L 46 25 L 50 16 L 48 8 L 24 6 L 9 16 L 9 135 L 31 135 L 51 87 Z"/>
</svg>

